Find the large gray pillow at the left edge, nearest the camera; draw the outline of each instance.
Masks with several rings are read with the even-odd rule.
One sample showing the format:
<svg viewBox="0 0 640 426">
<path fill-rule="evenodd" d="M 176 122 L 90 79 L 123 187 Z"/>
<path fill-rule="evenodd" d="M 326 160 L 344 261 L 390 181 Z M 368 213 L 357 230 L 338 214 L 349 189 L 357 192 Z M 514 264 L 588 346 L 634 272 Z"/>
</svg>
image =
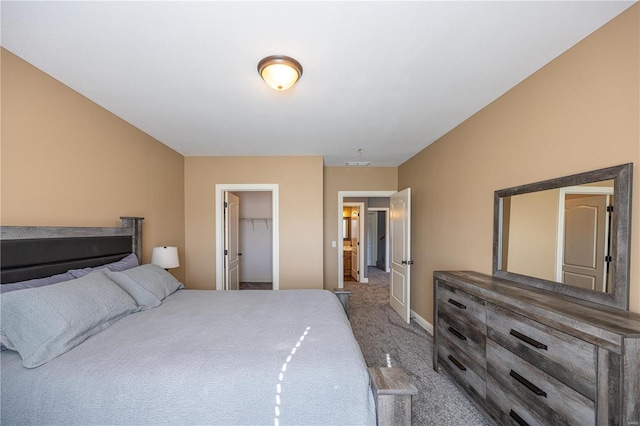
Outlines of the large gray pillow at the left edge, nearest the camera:
<svg viewBox="0 0 640 426">
<path fill-rule="evenodd" d="M 0 332 L 38 367 L 138 310 L 133 299 L 102 271 L 57 285 L 0 295 Z"/>
</svg>

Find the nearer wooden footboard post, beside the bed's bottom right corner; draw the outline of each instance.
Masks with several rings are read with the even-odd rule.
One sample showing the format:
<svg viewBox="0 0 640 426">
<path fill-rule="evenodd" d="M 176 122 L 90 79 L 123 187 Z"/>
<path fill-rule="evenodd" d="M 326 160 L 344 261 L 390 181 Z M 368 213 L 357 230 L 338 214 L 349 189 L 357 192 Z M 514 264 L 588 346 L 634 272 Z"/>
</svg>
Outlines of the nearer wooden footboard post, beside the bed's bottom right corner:
<svg viewBox="0 0 640 426">
<path fill-rule="evenodd" d="M 369 368 L 378 426 L 410 426 L 411 397 L 418 389 L 402 368 Z"/>
</svg>

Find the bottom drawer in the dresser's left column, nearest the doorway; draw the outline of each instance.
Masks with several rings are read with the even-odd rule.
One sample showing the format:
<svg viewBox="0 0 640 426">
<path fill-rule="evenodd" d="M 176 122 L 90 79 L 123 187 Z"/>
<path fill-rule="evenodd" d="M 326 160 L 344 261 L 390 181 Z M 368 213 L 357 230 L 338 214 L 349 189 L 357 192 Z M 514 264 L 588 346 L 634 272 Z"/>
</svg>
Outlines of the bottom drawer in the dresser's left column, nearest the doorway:
<svg viewBox="0 0 640 426">
<path fill-rule="evenodd" d="M 455 378 L 458 385 L 484 399 L 486 396 L 485 369 L 477 365 L 444 336 L 440 337 L 438 359 L 440 366 Z"/>
</svg>

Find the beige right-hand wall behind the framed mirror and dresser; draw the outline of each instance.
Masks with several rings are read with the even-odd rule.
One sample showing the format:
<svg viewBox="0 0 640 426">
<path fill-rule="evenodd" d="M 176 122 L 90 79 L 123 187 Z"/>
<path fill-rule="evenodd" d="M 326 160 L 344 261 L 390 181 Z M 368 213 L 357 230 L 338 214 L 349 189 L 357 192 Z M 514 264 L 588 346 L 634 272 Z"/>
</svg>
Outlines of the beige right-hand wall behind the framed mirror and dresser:
<svg viewBox="0 0 640 426">
<path fill-rule="evenodd" d="M 640 5 L 399 167 L 413 189 L 412 308 L 433 319 L 433 271 L 491 273 L 493 192 L 634 163 L 631 310 L 640 312 Z"/>
</svg>

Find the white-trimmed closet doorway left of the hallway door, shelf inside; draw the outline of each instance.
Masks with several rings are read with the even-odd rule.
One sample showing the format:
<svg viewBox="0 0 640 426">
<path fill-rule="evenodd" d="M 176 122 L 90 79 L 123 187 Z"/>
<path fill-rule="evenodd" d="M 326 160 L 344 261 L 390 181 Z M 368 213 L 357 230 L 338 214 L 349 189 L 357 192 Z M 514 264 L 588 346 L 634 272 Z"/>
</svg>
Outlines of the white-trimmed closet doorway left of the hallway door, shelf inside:
<svg viewBox="0 0 640 426">
<path fill-rule="evenodd" d="M 238 281 L 244 279 L 248 280 L 258 280 L 262 282 L 266 282 L 270 278 L 272 283 L 272 289 L 278 290 L 280 288 L 279 285 L 279 212 L 278 212 L 278 184 L 217 184 L 216 185 L 216 217 L 215 217 L 215 226 L 216 226 L 216 290 L 227 290 L 229 289 L 229 285 L 227 284 L 229 277 L 228 265 L 229 259 L 234 257 L 229 257 L 230 254 L 233 254 L 227 248 L 227 252 L 225 253 L 225 246 L 231 240 L 233 244 L 233 236 L 229 236 L 228 230 L 233 229 L 233 225 L 228 225 L 229 218 L 232 218 L 234 215 L 227 214 L 225 215 L 225 199 L 228 194 L 234 193 L 236 196 L 239 195 L 239 213 L 236 216 L 237 223 L 235 224 L 238 229 L 238 235 L 235 237 L 237 239 L 237 247 L 239 247 L 236 251 L 238 258 L 240 259 L 240 264 L 238 265 L 239 276 Z M 253 194 L 251 194 L 253 193 Z M 244 194 L 244 196 L 243 196 Z M 264 199 L 264 197 L 270 196 L 271 206 L 270 209 L 264 210 L 264 207 L 258 208 L 255 204 L 259 199 Z M 246 203 L 254 204 L 253 207 L 249 209 L 243 210 L 242 198 L 245 198 Z M 227 225 L 225 225 L 227 222 Z M 244 231 L 244 232 L 243 232 Z M 265 240 L 265 238 L 270 237 L 270 241 Z M 248 269 L 247 266 L 243 265 L 243 259 L 248 259 L 248 255 L 252 253 L 253 250 L 259 249 L 258 247 L 252 247 L 251 244 L 248 244 L 247 239 L 255 239 L 256 241 L 260 240 L 260 244 L 267 244 L 271 246 L 271 277 L 264 277 L 264 272 L 258 276 L 250 276 L 252 269 Z M 249 252 L 247 252 L 249 250 Z M 256 254 L 255 252 L 253 253 Z M 254 257 L 254 256 L 252 256 Z M 256 260 L 255 258 L 253 260 Z M 260 262 L 264 263 L 265 259 L 262 258 Z M 247 261 L 246 263 L 251 263 Z M 254 264 L 255 266 L 255 264 Z M 264 265 L 262 265 L 264 266 Z M 242 268 L 245 267 L 243 270 Z M 264 271 L 264 268 L 260 268 Z M 257 269 L 253 269 L 254 271 Z M 263 281 L 264 280 L 264 281 Z M 250 286 L 249 286 L 250 287 Z M 233 286 L 231 286 L 233 288 Z"/>
</svg>

